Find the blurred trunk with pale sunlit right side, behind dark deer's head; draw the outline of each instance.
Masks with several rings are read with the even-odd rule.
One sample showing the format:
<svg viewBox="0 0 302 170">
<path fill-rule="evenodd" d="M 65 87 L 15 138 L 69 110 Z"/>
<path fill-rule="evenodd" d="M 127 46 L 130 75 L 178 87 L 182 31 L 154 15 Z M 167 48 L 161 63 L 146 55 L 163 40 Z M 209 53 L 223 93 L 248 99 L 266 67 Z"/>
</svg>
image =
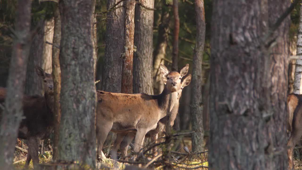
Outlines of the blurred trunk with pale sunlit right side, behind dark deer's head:
<svg viewBox="0 0 302 170">
<path fill-rule="evenodd" d="M 32 43 L 27 64 L 25 94 L 44 96 L 43 80 L 36 74 L 35 67 L 39 66 L 47 73 L 51 73 L 51 45 L 53 39 L 53 21 L 40 20 Z"/>
</svg>

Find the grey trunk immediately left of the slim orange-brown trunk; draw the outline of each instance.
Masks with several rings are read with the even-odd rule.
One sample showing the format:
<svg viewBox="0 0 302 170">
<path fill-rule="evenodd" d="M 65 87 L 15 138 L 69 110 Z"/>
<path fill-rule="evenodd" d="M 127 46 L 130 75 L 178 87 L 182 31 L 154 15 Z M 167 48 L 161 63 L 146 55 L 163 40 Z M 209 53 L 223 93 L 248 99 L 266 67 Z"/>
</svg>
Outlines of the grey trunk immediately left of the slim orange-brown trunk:
<svg viewBox="0 0 302 170">
<path fill-rule="evenodd" d="M 108 0 L 107 9 L 118 0 Z M 123 5 L 121 2 L 117 7 Z M 105 61 L 102 90 L 120 93 L 122 77 L 122 60 L 120 55 L 124 49 L 124 8 L 118 8 L 107 14 L 105 35 Z"/>
</svg>

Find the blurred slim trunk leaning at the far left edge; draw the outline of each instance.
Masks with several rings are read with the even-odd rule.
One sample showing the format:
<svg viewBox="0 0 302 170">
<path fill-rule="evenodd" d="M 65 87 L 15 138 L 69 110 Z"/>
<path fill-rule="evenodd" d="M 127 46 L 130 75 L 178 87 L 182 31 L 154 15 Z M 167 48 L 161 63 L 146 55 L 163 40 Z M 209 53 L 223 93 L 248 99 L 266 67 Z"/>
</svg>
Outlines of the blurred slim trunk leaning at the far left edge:
<svg viewBox="0 0 302 170">
<path fill-rule="evenodd" d="M 5 110 L 0 127 L 0 165 L 12 169 L 18 127 L 23 117 L 22 99 L 30 49 L 31 1 L 18 0 L 14 44 L 9 67 Z"/>
</svg>

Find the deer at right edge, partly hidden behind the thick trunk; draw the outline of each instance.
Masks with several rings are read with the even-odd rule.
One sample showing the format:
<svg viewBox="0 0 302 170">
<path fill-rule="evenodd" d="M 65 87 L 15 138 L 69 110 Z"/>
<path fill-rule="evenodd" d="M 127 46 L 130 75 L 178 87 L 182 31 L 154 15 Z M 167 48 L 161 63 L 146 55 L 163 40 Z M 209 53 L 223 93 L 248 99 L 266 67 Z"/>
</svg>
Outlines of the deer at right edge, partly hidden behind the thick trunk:
<svg viewBox="0 0 302 170">
<path fill-rule="evenodd" d="M 288 164 L 290 169 L 294 168 L 293 150 L 302 136 L 302 94 L 291 93 L 287 97 L 288 122 L 287 130 L 291 132 L 288 140 Z"/>
</svg>

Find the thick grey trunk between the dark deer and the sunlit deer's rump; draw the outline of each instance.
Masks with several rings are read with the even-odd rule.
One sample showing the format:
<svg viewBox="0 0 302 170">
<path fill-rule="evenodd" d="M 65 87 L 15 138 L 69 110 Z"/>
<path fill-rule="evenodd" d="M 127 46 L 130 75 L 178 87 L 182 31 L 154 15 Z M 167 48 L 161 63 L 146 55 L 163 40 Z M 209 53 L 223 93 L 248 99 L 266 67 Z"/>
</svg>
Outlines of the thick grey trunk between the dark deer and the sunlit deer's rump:
<svg viewBox="0 0 302 170">
<path fill-rule="evenodd" d="M 59 2 L 62 114 L 58 159 L 76 161 L 94 169 L 96 90 L 92 6 L 92 0 L 80 4 L 72 0 Z"/>
</svg>

